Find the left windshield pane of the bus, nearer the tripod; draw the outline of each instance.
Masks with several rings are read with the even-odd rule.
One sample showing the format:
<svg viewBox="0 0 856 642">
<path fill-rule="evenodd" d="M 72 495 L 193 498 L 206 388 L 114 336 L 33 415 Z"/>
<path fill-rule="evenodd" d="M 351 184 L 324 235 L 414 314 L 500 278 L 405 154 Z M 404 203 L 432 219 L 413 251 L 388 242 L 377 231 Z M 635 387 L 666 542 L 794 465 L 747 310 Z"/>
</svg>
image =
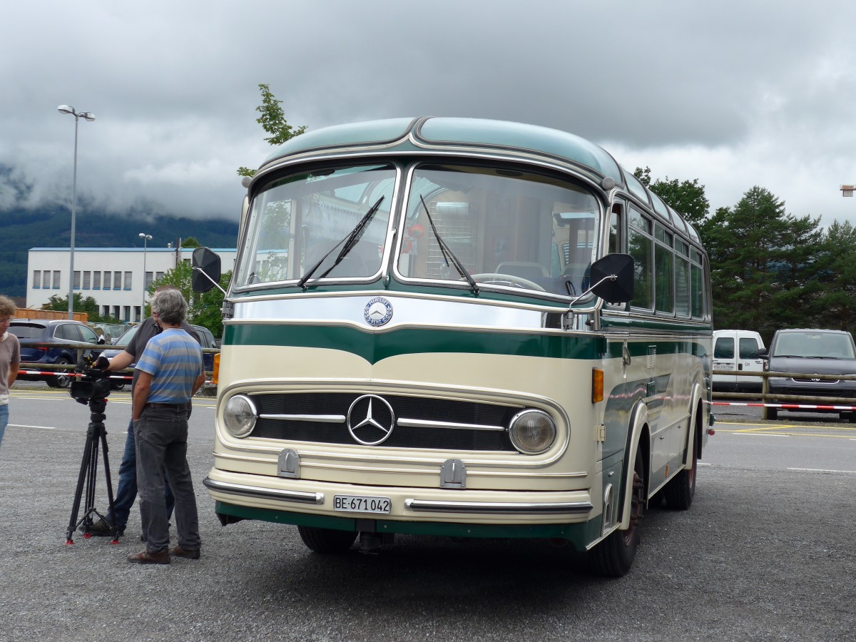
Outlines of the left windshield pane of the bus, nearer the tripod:
<svg viewBox="0 0 856 642">
<path fill-rule="evenodd" d="M 366 281 L 377 275 L 394 186 L 391 165 L 329 168 L 270 181 L 253 199 L 236 285 L 300 279 L 325 255 L 312 277 Z M 348 235 L 378 200 L 377 211 L 340 256 Z"/>
</svg>

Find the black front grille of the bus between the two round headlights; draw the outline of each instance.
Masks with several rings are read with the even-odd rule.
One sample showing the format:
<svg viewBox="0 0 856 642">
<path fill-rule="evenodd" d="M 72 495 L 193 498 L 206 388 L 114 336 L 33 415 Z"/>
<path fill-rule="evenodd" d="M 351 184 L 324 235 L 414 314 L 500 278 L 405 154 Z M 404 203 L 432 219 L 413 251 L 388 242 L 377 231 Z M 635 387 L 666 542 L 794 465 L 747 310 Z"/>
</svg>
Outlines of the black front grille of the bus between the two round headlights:
<svg viewBox="0 0 856 642">
<path fill-rule="evenodd" d="M 348 431 L 348 424 L 344 420 L 348 415 L 348 409 L 360 396 L 363 395 L 355 393 L 250 395 L 259 415 L 300 416 L 300 419 L 261 417 L 256 422 L 251 437 L 360 445 Z M 516 452 L 506 431 L 490 430 L 490 428 L 507 427 L 514 413 L 520 411 L 520 407 L 406 395 L 376 396 L 389 402 L 395 413 L 395 425 L 389 437 L 372 448 Z M 376 419 L 383 423 L 383 413 L 388 414 L 389 411 L 382 402 L 377 400 L 375 407 Z M 360 419 L 364 418 L 360 416 Z M 401 425 L 407 419 L 444 424 L 484 425 L 484 430 L 469 427 Z"/>
</svg>

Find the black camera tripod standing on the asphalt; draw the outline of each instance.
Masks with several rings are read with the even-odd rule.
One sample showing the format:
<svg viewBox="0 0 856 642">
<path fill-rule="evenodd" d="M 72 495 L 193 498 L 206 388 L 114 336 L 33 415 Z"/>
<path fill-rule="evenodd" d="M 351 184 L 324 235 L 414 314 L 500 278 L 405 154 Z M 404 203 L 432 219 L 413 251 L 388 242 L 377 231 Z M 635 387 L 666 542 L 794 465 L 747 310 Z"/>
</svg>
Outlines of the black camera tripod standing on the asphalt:
<svg viewBox="0 0 856 642">
<path fill-rule="evenodd" d="M 82 399 L 77 399 L 80 403 L 87 403 Z M 104 398 L 88 400 L 89 404 L 89 427 L 86 430 L 86 446 L 83 449 L 83 461 L 80 462 L 80 475 L 77 478 L 77 490 L 74 491 L 74 505 L 71 508 L 71 519 L 68 520 L 68 532 L 66 532 L 65 543 L 74 544 L 72 535 L 78 526 L 83 526 L 83 537 L 86 539 L 92 538 L 90 527 L 93 524 L 92 517 L 98 516 L 103 520 L 107 520 L 104 515 L 98 513 L 95 508 L 95 482 L 98 473 L 98 447 L 104 452 L 104 476 L 107 480 L 107 498 L 109 511 L 113 512 L 113 484 L 110 483 L 110 461 L 107 458 L 107 430 L 104 428 L 104 419 L 107 415 L 104 414 L 104 409 L 107 406 L 107 400 Z M 77 519 L 80 512 L 80 501 L 84 498 L 83 491 L 86 487 L 86 504 L 84 505 L 83 517 Z M 113 526 L 113 539 L 110 544 L 119 543 L 119 532 L 115 524 Z"/>
</svg>

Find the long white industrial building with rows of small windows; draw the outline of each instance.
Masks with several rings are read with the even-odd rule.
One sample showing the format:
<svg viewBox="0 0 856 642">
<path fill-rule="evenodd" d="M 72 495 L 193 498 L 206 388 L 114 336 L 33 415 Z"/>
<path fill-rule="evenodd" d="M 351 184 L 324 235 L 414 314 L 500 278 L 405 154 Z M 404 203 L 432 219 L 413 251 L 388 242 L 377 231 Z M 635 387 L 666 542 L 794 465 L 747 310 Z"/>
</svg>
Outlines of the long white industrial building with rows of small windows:
<svg viewBox="0 0 856 642">
<path fill-rule="evenodd" d="M 212 251 L 220 256 L 223 272 L 235 267 L 235 249 Z M 33 247 L 27 253 L 28 308 L 44 306 L 54 294 L 68 296 L 68 253 L 68 247 Z M 75 247 L 74 293 L 98 301 L 102 315 L 141 321 L 146 288 L 178 261 L 190 263 L 192 256 L 190 247 Z"/>
</svg>

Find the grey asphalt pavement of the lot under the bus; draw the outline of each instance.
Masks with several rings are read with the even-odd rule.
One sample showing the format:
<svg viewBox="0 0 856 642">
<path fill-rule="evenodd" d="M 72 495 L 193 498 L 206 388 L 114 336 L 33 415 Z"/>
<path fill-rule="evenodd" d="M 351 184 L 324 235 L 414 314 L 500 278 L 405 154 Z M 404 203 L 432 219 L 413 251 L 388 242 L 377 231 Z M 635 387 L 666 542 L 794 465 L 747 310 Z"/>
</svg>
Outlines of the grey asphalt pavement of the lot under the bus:
<svg viewBox="0 0 856 642">
<path fill-rule="evenodd" d="M 15 408 L 31 402 L 12 402 L 0 448 L 3 640 L 856 640 L 856 458 L 828 473 L 740 459 L 750 443 L 797 457 L 829 439 L 723 420 L 693 507 L 649 511 L 632 571 L 604 580 L 544 542 L 401 537 L 378 556 L 320 556 L 293 526 L 220 526 L 201 483 L 212 460 L 202 429 L 188 453 L 202 557 L 140 567 L 125 559 L 142 546 L 136 506 L 120 544 L 65 542 L 86 408 L 41 401 L 74 420 L 18 427 Z M 109 414 L 114 479 L 121 424 Z M 836 449 L 856 453 L 856 433 L 839 437 Z"/>
</svg>

